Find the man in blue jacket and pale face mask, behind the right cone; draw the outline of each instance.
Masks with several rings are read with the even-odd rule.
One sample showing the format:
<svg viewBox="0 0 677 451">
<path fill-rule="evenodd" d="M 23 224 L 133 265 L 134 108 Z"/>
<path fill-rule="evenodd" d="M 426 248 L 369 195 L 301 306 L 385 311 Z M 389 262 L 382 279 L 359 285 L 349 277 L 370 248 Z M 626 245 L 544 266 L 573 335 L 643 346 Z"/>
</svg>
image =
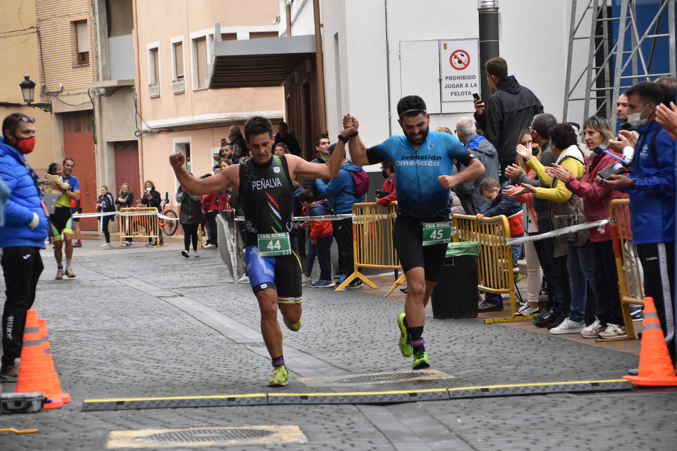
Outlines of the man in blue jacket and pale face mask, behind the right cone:
<svg viewBox="0 0 677 451">
<path fill-rule="evenodd" d="M 677 364 L 674 324 L 675 288 L 675 141 L 656 122 L 663 91 L 652 82 L 640 82 L 626 92 L 628 122 L 637 128 L 630 174 L 600 181 L 630 193 L 630 227 L 644 272 L 645 295 L 651 296 Z M 621 131 L 624 137 L 628 132 Z"/>
</svg>

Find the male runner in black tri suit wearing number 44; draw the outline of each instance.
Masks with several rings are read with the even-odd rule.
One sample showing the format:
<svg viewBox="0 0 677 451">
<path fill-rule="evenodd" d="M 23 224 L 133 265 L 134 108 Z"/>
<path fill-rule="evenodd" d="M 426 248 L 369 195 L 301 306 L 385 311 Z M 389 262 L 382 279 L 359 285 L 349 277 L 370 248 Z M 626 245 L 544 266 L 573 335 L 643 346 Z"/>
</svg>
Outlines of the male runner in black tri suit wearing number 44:
<svg viewBox="0 0 677 451">
<path fill-rule="evenodd" d="M 244 164 L 228 166 L 219 174 L 196 179 L 183 168 L 183 153 L 174 153 L 169 162 L 181 186 L 202 195 L 235 187 L 242 197 L 246 227 L 246 266 L 250 284 L 261 310 L 261 334 L 273 360 L 271 387 L 287 385 L 289 373 L 282 356 L 282 331 L 278 324 L 278 306 L 284 324 L 292 331 L 301 328 L 301 260 L 292 229 L 294 187 L 300 175 L 311 179 L 333 179 L 339 175 L 345 156 L 345 143 L 355 130 L 341 131 L 331 158 L 326 164 L 313 164 L 297 156 L 271 155 L 273 127 L 269 120 L 255 116 L 244 124 L 244 140 L 252 158 Z M 269 234 L 277 234 L 269 237 Z M 265 235 L 265 236 L 262 236 Z M 259 248 L 261 246 L 261 248 Z M 268 252 L 281 255 L 261 256 Z"/>
</svg>

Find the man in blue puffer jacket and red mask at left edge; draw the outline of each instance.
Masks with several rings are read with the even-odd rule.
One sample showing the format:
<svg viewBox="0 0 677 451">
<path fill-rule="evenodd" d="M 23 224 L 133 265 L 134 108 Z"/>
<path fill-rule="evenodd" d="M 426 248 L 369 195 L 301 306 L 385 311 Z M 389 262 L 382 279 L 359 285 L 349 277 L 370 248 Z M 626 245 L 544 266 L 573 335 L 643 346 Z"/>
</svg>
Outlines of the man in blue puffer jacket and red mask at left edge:
<svg viewBox="0 0 677 451">
<path fill-rule="evenodd" d="M 43 270 L 47 222 L 41 206 L 38 177 L 26 163 L 35 146 L 35 119 L 13 113 L 3 120 L 0 137 L 0 178 L 10 190 L 5 224 L 0 228 L 0 260 L 7 298 L 2 315 L 3 358 L 0 381 L 15 382 L 26 325 L 26 311 L 35 300 L 35 286 Z"/>
</svg>

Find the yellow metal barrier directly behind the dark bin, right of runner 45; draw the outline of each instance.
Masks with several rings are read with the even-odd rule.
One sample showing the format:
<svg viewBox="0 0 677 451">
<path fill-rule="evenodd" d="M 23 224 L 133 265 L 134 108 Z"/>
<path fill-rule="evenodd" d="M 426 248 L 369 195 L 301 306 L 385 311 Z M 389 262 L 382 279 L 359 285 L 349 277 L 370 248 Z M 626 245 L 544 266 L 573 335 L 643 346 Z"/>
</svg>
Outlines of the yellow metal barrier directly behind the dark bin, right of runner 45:
<svg viewBox="0 0 677 451">
<path fill-rule="evenodd" d="M 523 321 L 531 316 L 515 316 L 515 277 L 512 273 L 512 246 L 506 244 L 510 238 L 510 226 L 505 215 L 477 219 L 467 214 L 454 214 L 452 222 L 456 227 L 454 241 L 478 241 L 479 281 L 478 289 L 497 294 L 510 294 L 510 316 L 485 319 L 485 324 Z"/>
</svg>

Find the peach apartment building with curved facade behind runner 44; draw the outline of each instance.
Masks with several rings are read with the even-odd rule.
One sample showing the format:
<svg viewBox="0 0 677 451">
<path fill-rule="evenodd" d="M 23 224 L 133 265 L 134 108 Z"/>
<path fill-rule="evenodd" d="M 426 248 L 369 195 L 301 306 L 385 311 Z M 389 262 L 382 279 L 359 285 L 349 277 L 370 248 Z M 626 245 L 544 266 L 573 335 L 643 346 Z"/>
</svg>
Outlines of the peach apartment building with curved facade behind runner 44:
<svg viewBox="0 0 677 451">
<path fill-rule="evenodd" d="M 282 120 L 280 84 L 210 89 L 215 42 L 277 37 L 278 14 L 278 0 L 134 1 L 139 169 L 170 204 L 178 187 L 171 153 L 185 153 L 194 175 L 211 174 L 232 124 L 242 129 L 255 115 Z"/>
</svg>

